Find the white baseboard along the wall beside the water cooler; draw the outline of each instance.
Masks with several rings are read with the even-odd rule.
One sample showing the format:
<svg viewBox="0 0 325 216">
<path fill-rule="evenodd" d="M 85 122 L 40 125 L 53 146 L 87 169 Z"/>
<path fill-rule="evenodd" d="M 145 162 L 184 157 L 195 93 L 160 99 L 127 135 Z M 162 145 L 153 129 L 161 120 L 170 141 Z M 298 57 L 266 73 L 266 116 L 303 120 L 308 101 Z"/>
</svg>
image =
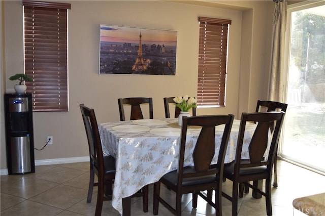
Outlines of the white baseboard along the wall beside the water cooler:
<svg viewBox="0 0 325 216">
<path fill-rule="evenodd" d="M 53 165 L 53 164 L 62 164 L 62 163 L 78 163 L 78 162 L 87 162 L 87 161 L 89 161 L 89 156 L 55 158 L 55 159 L 46 159 L 46 160 L 35 160 L 35 166 Z M 8 175 L 8 169 L 0 169 L 0 175 L 1 176 Z"/>
</svg>

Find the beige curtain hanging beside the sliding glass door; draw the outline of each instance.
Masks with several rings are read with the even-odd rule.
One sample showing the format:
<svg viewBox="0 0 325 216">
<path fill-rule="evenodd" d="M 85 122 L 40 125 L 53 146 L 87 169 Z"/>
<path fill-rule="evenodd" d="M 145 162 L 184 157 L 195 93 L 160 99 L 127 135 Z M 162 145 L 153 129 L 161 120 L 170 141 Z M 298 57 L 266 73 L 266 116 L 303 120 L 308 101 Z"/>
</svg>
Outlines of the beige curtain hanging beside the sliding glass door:
<svg viewBox="0 0 325 216">
<path fill-rule="evenodd" d="M 269 100 L 283 102 L 284 35 L 286 25 L 286 1 L 276 1 L 273 13 L 273 36 L 269 83 Z"/>
</svg>

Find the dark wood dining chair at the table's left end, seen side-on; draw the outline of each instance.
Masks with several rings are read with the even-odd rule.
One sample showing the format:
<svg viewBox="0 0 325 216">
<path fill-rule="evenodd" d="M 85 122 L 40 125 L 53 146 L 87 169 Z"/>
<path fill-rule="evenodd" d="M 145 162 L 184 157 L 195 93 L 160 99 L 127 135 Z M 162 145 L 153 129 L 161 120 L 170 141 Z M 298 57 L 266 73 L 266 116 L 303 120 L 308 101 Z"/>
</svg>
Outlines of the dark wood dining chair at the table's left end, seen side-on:
<svg viewBox="0 0 325 216">
<path fill-rule="evenodd" d="M 111 200 L 113 194 L 113 184 L 115 179 L 115 158 L 110 155 L 103 155 L 101 138 L 98 129 L 95 112 L 93 109 L 80 104 L 80 110 L 86 129 L 90 159 L 90 179 L 87 195 L 87 203 L 91 202 L 94 186 L 98 186 L 95 216 L 102 213 L 103 201 Z M 94 182 L 95 175 L 98 182 Z M 143 211 L 148 211 L 148 186 L 142 188 L 134 196 L 143 197 Z M 123 212 L 130 212 L 130 206 L 123 205 Z"/>
</svg>

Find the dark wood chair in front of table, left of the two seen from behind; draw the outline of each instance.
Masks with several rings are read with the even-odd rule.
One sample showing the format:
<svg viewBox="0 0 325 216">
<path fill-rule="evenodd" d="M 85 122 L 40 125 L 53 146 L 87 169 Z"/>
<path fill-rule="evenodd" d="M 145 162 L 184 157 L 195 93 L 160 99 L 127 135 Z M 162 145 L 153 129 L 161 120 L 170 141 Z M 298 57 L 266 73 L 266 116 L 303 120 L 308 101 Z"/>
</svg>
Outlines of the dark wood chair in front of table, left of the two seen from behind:
<svg viewBox="0 0 325 216">
<path fill-rule="evenodd" d="M 192 193 L 192 207 L 198 204 L 198 195 L 205 199 L 216 209 L 216 215 L 221 215 L 221 187 L 225 152 L 233 124 L 234 115 L 205 115 L 183 117 L 181 138 L 179 144 L 178 169 L 168 172 L 154 183 L 153 187 L 153 214 L 158 214 L 159 202 L 166 206 L 175 215 L 181 215 L 181 199 L 183 194 Z M 212 163 L 215 154 L 215 127 L 224 125 L 216 163 Z M 191 154 L 194 165 L 184 167 L 184 153 L 186 146 L 187 129 L 191 125 L 201 126 L 200 135 L 194 143 L 194 151 Z M 160 183 L 176 192 L 176 208 L 172 207 L 160 196 Z M 201 191 L 215 190 L 215 203 L 208 199 Z"/>
</svg>

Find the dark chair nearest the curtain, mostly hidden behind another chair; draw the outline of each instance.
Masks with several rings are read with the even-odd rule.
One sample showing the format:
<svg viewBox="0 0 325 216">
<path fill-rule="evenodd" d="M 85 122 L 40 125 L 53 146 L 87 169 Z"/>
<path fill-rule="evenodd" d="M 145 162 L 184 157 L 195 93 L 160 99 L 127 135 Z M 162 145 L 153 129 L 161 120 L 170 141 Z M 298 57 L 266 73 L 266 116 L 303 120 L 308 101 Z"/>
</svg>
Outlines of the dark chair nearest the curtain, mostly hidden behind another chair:
<svg viewBox="0 0 325 216">
<path fill-rule="evenodd" d="M 283 111 L 286 112 L 287 104 L 280 103 L 277 101 L 261 101 L 258 100 L 256 104 L 256 111 L 255 112 L 272 112 L 272 111 Z M 273 131 L 273 125 L 270 125 L 271 131 Z M 276 149 L 276 154 L 278 152 L 278 148 Z M 275 157 L 273 169 L 274 169 L 274 182 L 273 187 L 278 187 L 278 178 L 277 178 L 277 156 Z M 246 191 L 247 192 L 247 191 Z M 248 193 L 248 192 L 247 192 Z"/>
</svg>

